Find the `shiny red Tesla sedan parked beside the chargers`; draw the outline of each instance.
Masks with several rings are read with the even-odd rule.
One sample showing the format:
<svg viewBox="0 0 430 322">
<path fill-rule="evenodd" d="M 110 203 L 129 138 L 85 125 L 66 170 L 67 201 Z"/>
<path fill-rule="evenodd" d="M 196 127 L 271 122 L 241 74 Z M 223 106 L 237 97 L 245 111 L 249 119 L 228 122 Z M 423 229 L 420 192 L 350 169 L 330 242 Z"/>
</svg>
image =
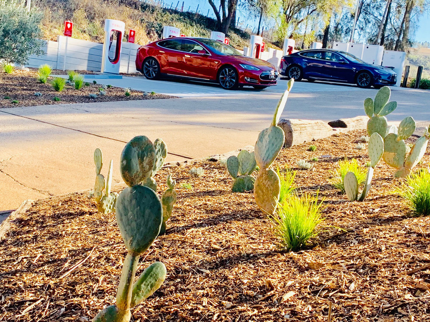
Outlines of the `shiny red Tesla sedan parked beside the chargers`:
<svg viewBox="0 0 430 322">
<path fill-rule="evenodd" d="M 276 85 L 278 72 L 267 61 L 242 55 L 233 47 L 207 38 L 175 37 L 138 49 L 136 69 L 148 80 L 168 75 L 218 82 L 224 89 Z"/>
</svg>

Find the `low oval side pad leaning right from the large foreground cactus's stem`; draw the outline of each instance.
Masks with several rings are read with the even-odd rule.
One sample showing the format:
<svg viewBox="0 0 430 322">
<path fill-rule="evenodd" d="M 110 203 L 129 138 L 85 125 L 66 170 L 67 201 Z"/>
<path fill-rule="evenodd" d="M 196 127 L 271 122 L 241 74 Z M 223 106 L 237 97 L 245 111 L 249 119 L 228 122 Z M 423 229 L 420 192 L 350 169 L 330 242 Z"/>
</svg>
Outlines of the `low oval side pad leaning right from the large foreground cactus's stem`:
<svg viewBox="0 0 430 322">
<path fill-rule="evenodd" d="M 166 279 L 166 274 L 166 266 L 162 262 L 147 267 L 133 285 L 130 307 L 135 307 L 157 291 Z"/>
</svg>

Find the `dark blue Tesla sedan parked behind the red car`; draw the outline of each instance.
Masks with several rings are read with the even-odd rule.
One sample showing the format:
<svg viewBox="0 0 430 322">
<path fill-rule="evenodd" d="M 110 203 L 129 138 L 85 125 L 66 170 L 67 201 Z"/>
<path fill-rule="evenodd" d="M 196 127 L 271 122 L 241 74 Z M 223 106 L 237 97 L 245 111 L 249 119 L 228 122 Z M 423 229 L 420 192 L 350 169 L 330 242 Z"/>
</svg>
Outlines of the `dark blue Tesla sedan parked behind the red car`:
<svg viewBox="0 0 430 322">
<path fill-rule="evenodd" d="M 348 52 L 332 49 L 302 50 L 283 56 L 279 74 L 295 80 L 326 80 L 362 88 L 380 88 L 397 82 L 397 74 L 390 68 L 368 64 Z"/>
</svg>

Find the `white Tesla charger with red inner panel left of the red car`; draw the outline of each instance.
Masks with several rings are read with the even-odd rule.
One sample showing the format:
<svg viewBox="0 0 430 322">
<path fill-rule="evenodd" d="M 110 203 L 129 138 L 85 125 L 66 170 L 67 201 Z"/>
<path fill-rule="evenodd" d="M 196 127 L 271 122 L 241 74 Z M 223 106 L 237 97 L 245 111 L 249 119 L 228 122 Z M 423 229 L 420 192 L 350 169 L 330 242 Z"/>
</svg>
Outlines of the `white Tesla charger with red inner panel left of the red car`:
<svg viewBox="0 0 430 322">
<path fill-rule="evenodd" d="M 104 43 L 101 57 L 101 72 L 120 74 L 121 43 L 126 24 L 123 21 L 104 21 Z"/>
</svg>

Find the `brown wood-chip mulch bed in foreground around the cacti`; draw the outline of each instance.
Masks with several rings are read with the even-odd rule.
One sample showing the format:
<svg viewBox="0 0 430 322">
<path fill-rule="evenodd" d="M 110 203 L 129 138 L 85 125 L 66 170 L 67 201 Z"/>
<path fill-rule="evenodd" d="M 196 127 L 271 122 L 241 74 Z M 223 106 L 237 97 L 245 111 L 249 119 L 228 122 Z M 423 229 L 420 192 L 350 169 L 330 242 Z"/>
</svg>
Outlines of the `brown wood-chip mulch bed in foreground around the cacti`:
<svg viewBox="0 0 430 322">
<path fill-rule="evenodd" d="M 335 162 L 355 157 L 364 131 L 283 150 L 275 166 L 298 170 L 302 191 L 325 198 L 319 235 L 303 251 L 279 247 L 252 193 L 232 193 L 233 179 L 215 159 L 189 161 L 157 174 L 176 179 L 178 202 L 142 256 L 140 274 L 166 264 L 161 288 L 132 309 L 134 321 L 430 321 L 430 218 L 411 218 L 393 192 L 403 179 L 382 161 L 364 202 L 330 184 Z M 427 167 L 430 150 L 424 163 Z M 331 155 L 322 158 L 322 155 Z M 203 167 L 202 178 L 188 171 Z M 190 185 L 190 186 L 189 186 Z M 115 301 L 126 255 L 114 215 L 96 212 L 85 194 L 37 201 L 0 241 L 0 321 L 90 321 Z"/>
</svg>

